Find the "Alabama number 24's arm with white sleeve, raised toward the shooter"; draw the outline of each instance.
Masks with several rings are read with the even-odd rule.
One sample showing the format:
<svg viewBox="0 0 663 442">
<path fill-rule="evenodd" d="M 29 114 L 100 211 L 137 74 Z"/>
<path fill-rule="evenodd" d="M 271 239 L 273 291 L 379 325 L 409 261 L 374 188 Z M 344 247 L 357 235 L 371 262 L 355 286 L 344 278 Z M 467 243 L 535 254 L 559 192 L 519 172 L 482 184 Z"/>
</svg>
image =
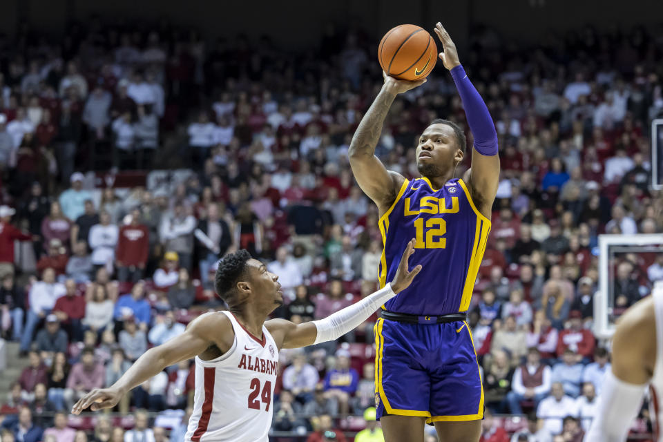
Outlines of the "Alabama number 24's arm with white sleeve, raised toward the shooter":
<svg viewBox="0 0 663 442">
<path fill-rule="evenodd" d="M 336 313 L 324 319 L 299 325 L 285 319 L 273 319 L 267 321 L 265 326 L 274 336 L 276 342 L 281 342 L 280 348 L 306 347 L 307 345 L 340 338 L 340 336 L 367 320 L 385 302 L 410 287 L 416 274 L 421 271 L 421 265 L 414 267 L 412 271 L 409 270 L 408 261 L 414 253 L 414 244 L 414 239 L 407 244 L 394 280 L 374 294 L 345 307 L 345 309 L 336 311 Z"/>
</svg>

